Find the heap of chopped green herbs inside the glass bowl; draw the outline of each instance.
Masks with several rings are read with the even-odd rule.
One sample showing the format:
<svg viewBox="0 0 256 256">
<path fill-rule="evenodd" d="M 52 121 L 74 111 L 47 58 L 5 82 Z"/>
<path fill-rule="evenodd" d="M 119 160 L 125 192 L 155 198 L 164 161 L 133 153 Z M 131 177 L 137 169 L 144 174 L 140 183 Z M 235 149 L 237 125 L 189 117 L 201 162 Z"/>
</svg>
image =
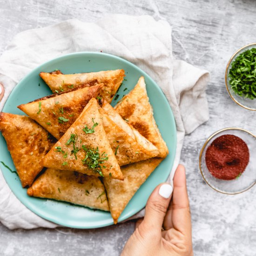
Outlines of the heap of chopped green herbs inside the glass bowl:
<svg viewBox="0 0 256 256">
<path fill-rule="evenodd" d="M 256 48 L 244 51 L 231 62 L 229 84 L 237 95 L 256 99 Z"/>
</svg>

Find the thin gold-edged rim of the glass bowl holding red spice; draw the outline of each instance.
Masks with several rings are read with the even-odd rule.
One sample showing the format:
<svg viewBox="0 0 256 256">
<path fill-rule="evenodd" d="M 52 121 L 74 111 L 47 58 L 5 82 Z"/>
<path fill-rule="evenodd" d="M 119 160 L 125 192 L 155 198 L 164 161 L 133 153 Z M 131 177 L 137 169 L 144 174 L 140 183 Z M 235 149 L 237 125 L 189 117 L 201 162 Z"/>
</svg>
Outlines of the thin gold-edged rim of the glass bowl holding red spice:
<svg viewBox="0 0 256 256">
<path fill-rule="evenodd" d="M 208 144 L 208 142 L 209 142 L 215 135 L 217 135 L 217 134 L 219 134 L 219 133 L 221 133 L 221 132 L 223 132 L 223 131 L 227 131 L 227 130 L 239 130 L 239 131 L 243 131 L 243 132 L 246 132 L 246 133 L 248 133 L 249 135 L 252 135 L 253 137 L 256 138 L 256 135 L 252 134 L 251 132 L 249 132 L 248 130 L 245 130 L 245 129 L 243 129 L 243 128 L 229 127 L 229 128 L 223 128 L 223 129 L 221 129 L 221 130 L 216 131 L 215 133 L 213 133 L 212 135 L 210 135 L 210 136 L 208 137 L 208 139 L 204 142 L 204 144 L 203 144 L 203 146 L 202 146 L 202 148 L 201 148 L 200 155 L 199 155 L 199 169 L 200 169 L 200 172 L 201 172 L 201 175 L 202 175 L 203 180 L 206 182 L 206 184 L 209 185 L 209 187 L 211 187 L 211 188 L 214 189 L 215 191 L 220 192 L 220 193 L 225 194 L 225 195 L 237 195 L 237 194 L 241 194 L 241 193 L 243 193 L 243 192 L 245 192 L 245 191 L 251 189 L 251 188 L 256 184 L 256 181 L 255 181 L 254 183 L 252 183 L 248 188 L 246 188 L 246 189 L 244 189 L 244 190 L 242 190 L 242 191 L 239 191 L 239 192 L 223 192 L 223 191 L 221 191 L 221 190 L 219 190 L 219 189 L 216 189 L 214 186 L 212 186 L 212 185 L 206 180 L 206 178 L 205 178 L 204 175 L 203 175 L 203 171 L 202 171 L 202 152 L 203 152 L 204 148 L 206 147 L 206 145 Z"/>
</svg>

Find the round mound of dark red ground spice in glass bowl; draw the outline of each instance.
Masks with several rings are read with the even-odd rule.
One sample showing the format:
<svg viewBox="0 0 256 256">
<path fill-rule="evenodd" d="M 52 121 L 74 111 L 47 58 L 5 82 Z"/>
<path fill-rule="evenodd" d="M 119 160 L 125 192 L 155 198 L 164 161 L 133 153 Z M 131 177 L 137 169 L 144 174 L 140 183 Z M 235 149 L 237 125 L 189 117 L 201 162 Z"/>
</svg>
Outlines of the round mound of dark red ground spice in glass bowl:
<svg viewBox="0 0 256 256">
<path fill-rule="evenodd" d="M 222 135 L 207 148 L 206 166 L 217 179 L 233 180 L 239 177 L 249 162 L 249 148 L 235 135 Z"/>
</svg>

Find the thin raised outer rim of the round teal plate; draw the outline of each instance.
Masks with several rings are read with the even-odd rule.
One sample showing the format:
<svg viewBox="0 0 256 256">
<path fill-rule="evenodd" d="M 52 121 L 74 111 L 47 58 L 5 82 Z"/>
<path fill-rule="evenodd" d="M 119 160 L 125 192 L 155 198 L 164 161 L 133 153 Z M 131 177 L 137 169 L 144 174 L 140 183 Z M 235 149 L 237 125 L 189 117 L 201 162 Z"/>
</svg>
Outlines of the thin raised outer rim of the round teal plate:
<svg viewBox="0 0 256 256">
<path fill-rule="evenodd" d="M 174 137 L 173 137 L 173 140 L 174 140 L 174 152 L 172 152 L 172 155 L 173 155 L 173 157 L 172 157 L 173 159 L 171 160 L 171 161 L 172 161 L 172 164 L 169 166 L 168 171 L 167 171 L 165 174 L 162 175 L 162 179 L 163 179 L 164 181 L 166 181 L 167 178 L 168 178 L 168 176 L 169 176 L 170 173 L 171 173 L 172 168 L 173 168 L 174 160 L 175 160 L 175 156 L 176 156 L 176 149 L 177 149 L 177 128 L 176 128 L 176 122 L 175 122 L 174 113 L 173 113 L 173 111 L 172 111 L 172 108 L 171 108 L 171 106 L 170 106 L 170 104 L 169 104 L 169 102 L 168 102 L 168 99 L 167 99 L 166 95 L 165 95 L 164 92 L 162 91 L 162 88 L 160 88 L 160 86 L 159 86 L 145 71 L 143 71 L 140 67 L 137 67 L 134 63 L 132 63 L 132 62 L 130 62 L 130 61 L 124 59 L 124 58 L 121 58 L 121 57 L 116 56 L 116 55 L 113 55 L 113 54 L 107 54 L 107 53 L 101 53 L 101 52 L 94 52 L 94 51 L 93 51 L 93 52 L 82 51 L 82 52 L 75 52 L 75 53 L 64 54 L 64 55 L 58 56 L 58 57 L 56 57 L 56 58 L 53 58 L 53 59 L 51 59 L 51 60 L 49 60 L 49 61 L 45 61 L 45 62 L 43 62 L 42 64 L 40 64 L 39 66 L 33 68 L 28 74 L 26 74 L 26 75 L 15 85 L 15 87 L 13 88 L 13 90 L 11 91 L 11 93 L 8 95 L 8 97 L 7 97 L 7 99 L 6 99 L 5 103 L 4 103 L 3 108 L 2 108 L 1 111 L 4 111 L 4 109 L 7 108 L 6 105 L 7 105 L 7 101 L 9 100 L 9 97 L 17 90 L 17 88 L 19 87 L 20 83 L 22 83 L 22 82 L 23 82 L 24 80 L 26 80 L 31 74 L 33 74 L 35 69 L 39 69 L 40 67 L 43 67 L 43 66 L 45 66 L 45 65 L 47 65 L 47 64 L 50 64 L 52 61 L 61 61 L 62 59 L 66 59 L 66 58 L 68 58 L 68 57 L 74 57 L 74 56 L 80 56 L 80 55 L 87 55 L 87 54 L 93 54 L 93 55 L 95 55 L 95 56 L 104 55 L 104 56 L 106 56 L 106 57 L 108 57 L 108 58 L 114 58 L 114 59 L 116 59 L 116 60 L 118 60 L 118 61 L 125 62 L 126 64 L 132 66 L 132 67 L 135 68 L 137 71 L 139 71 L 143 76 L 147 77 L 147 79 L 150 80 L 150 82 L 155 85 L 155 88 L 160 92 L 160 94 L 161 94 L 162 96 L 164 96 L 163 98 L 164 98 L 165 103 L 167 103 L 168 112 L 169 112 L 169 114 L 170 114 L 170 115 L 168 116 L 168 118 L 171 119 L 172 126 L 173 126 L 172 128 L 173 128 L 173 131 L 174 131 Z M 154 111 L 154 109 L 153 109 L 153 111 Z M 164 159 L 164 160 L 165 160 L 165 159 Z M 163 161 L 164 161 L 164 160 L 163 160 Z M 161 164 L 161 163 L 160 163 L 160 164 Z M 2 175 L 4 176 L 5 181 L 7 182 L 7 178 L 6 178 L 5 173 L 4 173 L 3 171 L 2 171 Z M 145 181 L 145 182 L 146 182 L 146 181 Z M 144 183 L 145 183 L 145 182 L 144 182 Z M 143 184 L 144 184 L 144 183 L 143 183 Z M 143 184 L 142 184 L 142 185 L 143 185 Z M 7 182 L 7 185 L 8 185 L 8 187 L 10 188 L 8 182 Z M 142 186 L 142 185 L 141 185 L 141 186 Z M 140 187 L 140 188 L 141 188 L 141 187 Z M 139 188 L 139 189 L 140 189 L 140 188 Z M 10 189 L 11 189 L 11 188 L 10 188 Z M 23 189 L 23 188 L 22 188 L 22 189 Z M 139 190 L 139 189 L 138 189 L 138 190 Z M 63 222 L 59 221 L 59 220 L 56 219 L 56 218 L 54 219 L 54 218 L 51 217 L 51 216 L 45 216 L 45 215 L 41 214 L 40 211 L 37 210 L 37 207 L 35 207 L 35 208 L 33 207 L 33 206 L 34 206 L 33 203 L 31 203 L 31 202 L 30 202 L 30 203 L 24 202 L 24 201 L 26 201 L 26 200 L 23 200 L 22 196 L 16 195 L 16 194 L 13 192 L 12 189 L 11 189 L 11 191 L 12 191 L 13 195 L 15 195 L 15 197 L 16 197 L 27 209 L 31 210 L 34 214 L 36 214 L 37 216 L 40 216 L 41 218 L 43 218 L 43 219 L 45 219 L 45 220 L 47 220 L 47 221 L 49 221 L 49 222 L 53 222 L 53 223 L 55 223 L 55 224 L 57 224 L 57 225 L 61 225 L 61 226 L 63 226 L 63 227 L 75 228 L 75 229 L 95 229 L 95 228 L 106 227 L 106 226 L 110 226 L 110 225 L 113 225 L 113 224 L 114 224 L 112 217 L 111 217 L 111 221 L 108 221 L 108 222 L 106 222 L 106 223 L 99 223 L 99 224 L 95 224 L 95 222 L 94 222 L 94 224 L 93 224 L 92 226 L 84 226 L 84 225 L 82 225 L 82 223 L 81 223 L 81 225 L 79 225 L 79 226 L 74 225 L 74 224 L 69 224 L 69 223 L 63 224 Z M 136 191 L 136 193 L 137 193 L 137 191 Z M 135 194 L 136 194 L 136 193 L 135 193 Z M 48 199 L 48 200 L 50 200 L 50 199 Z M 59 201 L 54 200 L 54 202 L 59 202 Z M 28 207 L 27 204 L 30 204 L 30 206 Z M 31 205 L 32 205 L 32 207 L 31 207 Z M 121 216 L 120 216 L 118 223 L 121 223 L 121 222 L 124 222 L 124 221 L 128 220 L 130 217 L 134 216 L 136 213 L 138 213 L 139 211 L 141 211 L 141 209 L 143 209 L 143 208 L 145 207 L 145 205 L 146 205 L 146 203 L 142 203 L 141 206 L 138 207 L 135 212 L 133 212 L 132 214 L 129 214 L 128 216 L 124 216 L 124 217 L 121 217 Z M 100 221 L 100 222 L 101 222 L 101 221 Z"/>
</svg>

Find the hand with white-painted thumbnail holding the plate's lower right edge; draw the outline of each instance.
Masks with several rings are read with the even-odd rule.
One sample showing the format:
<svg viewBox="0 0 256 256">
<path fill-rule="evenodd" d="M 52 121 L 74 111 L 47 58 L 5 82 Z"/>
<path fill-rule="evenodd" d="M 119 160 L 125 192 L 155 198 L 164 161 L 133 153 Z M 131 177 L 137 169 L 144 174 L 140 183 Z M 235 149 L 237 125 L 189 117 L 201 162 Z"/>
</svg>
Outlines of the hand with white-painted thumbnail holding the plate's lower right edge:
<svg viewBox="0 0 256 256">
<path fill-rule="evenodd" d="M 162 183 L 152 192 L 121 256 L 193 256 L 184 166 L 178 166 L 173 182 L 174 189 Z"/>
</svg>

